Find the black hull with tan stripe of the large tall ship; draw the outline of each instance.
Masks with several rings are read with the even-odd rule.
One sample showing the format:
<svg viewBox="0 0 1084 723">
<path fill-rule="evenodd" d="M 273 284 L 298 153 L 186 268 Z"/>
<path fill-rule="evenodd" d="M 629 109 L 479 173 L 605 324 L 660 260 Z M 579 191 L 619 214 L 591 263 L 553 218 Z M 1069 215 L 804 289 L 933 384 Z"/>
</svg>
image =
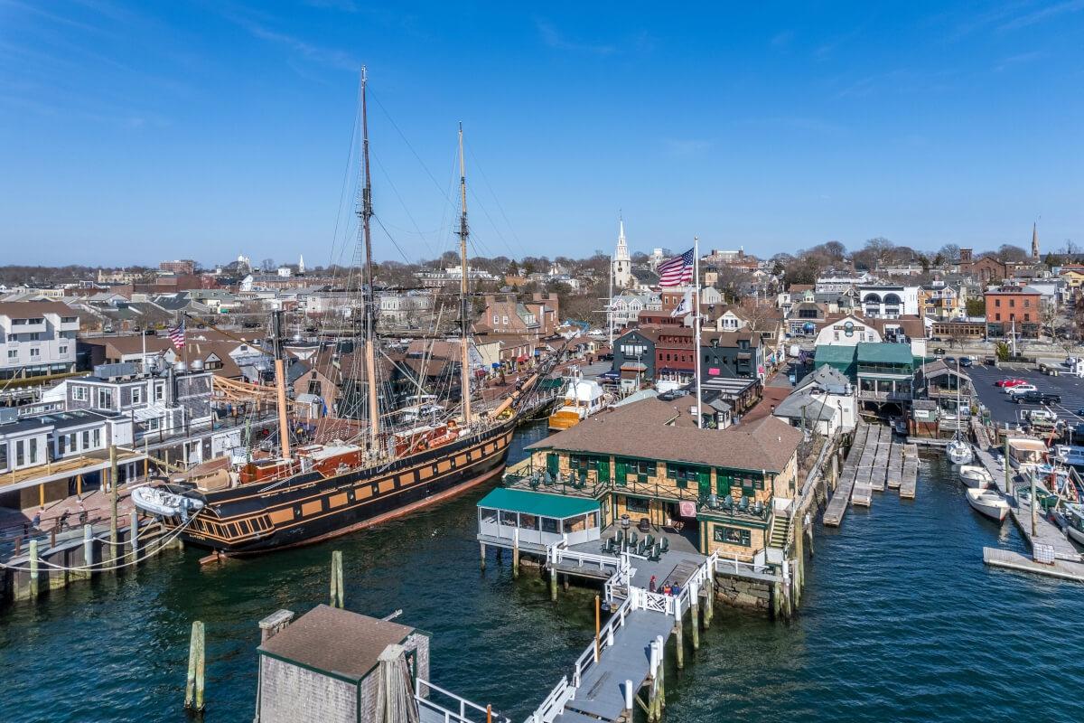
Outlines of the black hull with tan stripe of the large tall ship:
<svg viewBox="0 0 1084 723">
<path fill-rule="evenodd" d="M 185 541 L 230 555 L 310 544 L 363 529 L 495 477 L 508 455 L 515 418 L 378 469 L 324 478 L 296 475 L 204 493 Z M 287 483 L 288 482 L 288 483 Z M 180 525 L 180 519 L 167 520 Z"/>
</svg>

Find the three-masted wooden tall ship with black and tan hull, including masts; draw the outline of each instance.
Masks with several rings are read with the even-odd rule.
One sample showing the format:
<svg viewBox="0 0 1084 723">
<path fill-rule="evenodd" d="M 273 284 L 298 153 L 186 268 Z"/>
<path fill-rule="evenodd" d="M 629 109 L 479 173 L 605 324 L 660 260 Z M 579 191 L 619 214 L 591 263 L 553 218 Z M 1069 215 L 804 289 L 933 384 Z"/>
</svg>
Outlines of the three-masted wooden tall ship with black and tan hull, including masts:
<svg viewBox="0 0 1084 723">
<path fill-rule="evenodd" d="M 530 402 L 538 379 L 556 362 L 542 360 L 532 375 L 487 410 L 472 409 L 470 307 L 467 272 L 466 171 L 463 127 L 459 130 L 462 276 L 459 294 L 459 402 L 444 414 L 434 398 L 382 414 L 377 385 L 375 295 L 373 293 L 372 182 L 369 166 L 366 78 L 361 78 L 361 170 L 358 205 L 363 257 L 361 327 L 366 413 L 362 423 L 323 425 L 322 435 L 299 439 L 288 416 L 282 312 L 272 315 L 274 387 L 222 382 L 223 392 L 246 395 L 278 408 L 276 443 L 173 476 L 158 487 L 137 488 L 132 500 L 186 541 L 227 555 L 248 555 L 298 546 L 345 534 L 447 499 L 500 475 L 505 466 L 519 409 Z M 451 395 L 449 396 L 451 399 Z M 424 400 L 424 403 L 423 403 Z M 423 413 L 424 412 L 424 413 Z M 292 428 L 293 427 L 293 428 Z M 344 434 L 343 429 L 352 431 Z M 293 437 L 293 438 L 292 438 Z"/>
</svg>

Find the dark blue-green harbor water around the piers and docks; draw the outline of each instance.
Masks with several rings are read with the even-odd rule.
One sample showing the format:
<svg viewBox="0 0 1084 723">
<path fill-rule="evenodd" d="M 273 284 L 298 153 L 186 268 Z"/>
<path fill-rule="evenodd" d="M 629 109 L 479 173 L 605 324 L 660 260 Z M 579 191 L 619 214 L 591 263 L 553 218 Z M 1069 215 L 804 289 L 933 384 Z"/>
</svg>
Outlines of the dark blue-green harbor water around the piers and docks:
<svg viewBox="0 0 1084 723">
<path fill-rule="evenodd" d="M 522 446 L 544 423 L 517 436 Z M 326 602 L 341 550 L 347 607 L 433 634 L 431 679 L 517 723 L 590 642 L 593 593 L 550 602 L 530 568 L 478 569 L 478 489 L 328 542 L 199 569 L 171 551 L 0 612 L 0 721 L 184 721 L 193 620 L 207 635 L 211 723 L 248 723 L 257 622 Z M 700 650 L 668 677 L 670 720 L 1070 721 L 1084 689 L 1084 588 L 988 569 L 983 545 L 1023 550 L 1011 522 L 966 504 L 952 468 L 926 456 L 915 501 L 888 491 L 818 528 L 797 619 L 717 607 Z M 672 643 L 671 643 L 672 644 Z"/>
</svg>

